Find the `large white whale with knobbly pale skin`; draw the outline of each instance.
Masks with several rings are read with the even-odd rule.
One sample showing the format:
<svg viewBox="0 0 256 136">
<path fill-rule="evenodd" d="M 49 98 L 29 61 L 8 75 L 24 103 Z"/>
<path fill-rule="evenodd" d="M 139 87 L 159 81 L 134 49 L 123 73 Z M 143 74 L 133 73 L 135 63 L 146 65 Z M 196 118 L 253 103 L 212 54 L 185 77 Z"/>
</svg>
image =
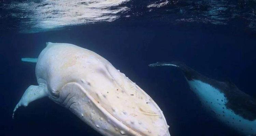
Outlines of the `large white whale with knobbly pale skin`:
<svg viewBox="0 0 256 136">
<path fill-rule="evenodd" d="M 157 104 L 138 85 L 93 51 L 46 43 L 37 62 L 38 86 L 31 85 L 16 105 L 42 97 L 68 108 L 104 136 L 170 136 Z"/>
</svg>

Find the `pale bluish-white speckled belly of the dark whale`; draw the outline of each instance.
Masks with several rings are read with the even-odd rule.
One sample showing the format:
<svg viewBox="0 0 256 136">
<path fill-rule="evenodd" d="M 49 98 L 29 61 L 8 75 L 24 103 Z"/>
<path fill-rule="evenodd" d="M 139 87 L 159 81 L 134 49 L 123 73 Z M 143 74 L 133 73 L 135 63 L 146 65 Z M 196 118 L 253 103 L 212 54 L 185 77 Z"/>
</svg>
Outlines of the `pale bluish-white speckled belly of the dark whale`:
<svg viewBox="0 0 256 136">
<path fill-rule="evenodd" d="M 223 92 L 200 80 L 188 83 L 205 108 L 212 111 L 219 120 L 245 135 L 256 134 L 256 120 L 246 120 L 227 108 L 227 99 Z"/>
</svg>

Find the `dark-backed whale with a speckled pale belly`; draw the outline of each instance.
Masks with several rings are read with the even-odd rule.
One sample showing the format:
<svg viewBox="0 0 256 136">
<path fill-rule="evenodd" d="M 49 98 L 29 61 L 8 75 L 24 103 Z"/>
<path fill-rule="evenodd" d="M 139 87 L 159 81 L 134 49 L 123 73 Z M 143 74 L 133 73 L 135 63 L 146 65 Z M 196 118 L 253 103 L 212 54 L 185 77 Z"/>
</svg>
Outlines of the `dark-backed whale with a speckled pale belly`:
<svg viewBox="0 0 256 136">
<path fill-rule="evenodd" d="M 256 99 L 234 84 L 204 77 L 179 62 L 158 62 L 149 66 L 173 66 L 181 69 L 190 89 L 215 117 L 243 135 L 256 135 Z"/>
</svg>

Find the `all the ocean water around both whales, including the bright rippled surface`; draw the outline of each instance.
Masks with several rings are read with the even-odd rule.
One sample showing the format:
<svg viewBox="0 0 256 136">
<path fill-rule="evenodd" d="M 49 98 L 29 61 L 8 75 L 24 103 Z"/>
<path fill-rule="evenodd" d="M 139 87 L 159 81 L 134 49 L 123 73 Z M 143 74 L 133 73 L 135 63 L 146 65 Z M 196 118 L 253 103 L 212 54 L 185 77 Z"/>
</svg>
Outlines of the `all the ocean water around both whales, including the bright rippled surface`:
<svg viewBox="0 0 256 136">
<path fill-rule="evenodd" d="M 172 136 L 240 136 L 212 117 L 175 68 L 180 61 L 209 78 L 232 81 L 256 97 L 256 2 L 0 1 L 0 135 L 100 136 L 48 98 L 12 112 L 29 85 L 46 42 L 98 53 L 139 85 L 163 111 Z M 256 126 L 255 126 L 256 128 Z"/>
</svg>

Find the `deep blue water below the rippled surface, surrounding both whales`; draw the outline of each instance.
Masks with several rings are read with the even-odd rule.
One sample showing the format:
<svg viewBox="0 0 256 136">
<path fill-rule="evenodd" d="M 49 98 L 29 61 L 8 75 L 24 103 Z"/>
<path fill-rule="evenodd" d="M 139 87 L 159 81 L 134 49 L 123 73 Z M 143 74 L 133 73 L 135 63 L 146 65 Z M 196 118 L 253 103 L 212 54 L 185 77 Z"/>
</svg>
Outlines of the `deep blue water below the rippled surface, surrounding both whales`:
<svg viewBox="0 0 256 136">
<path fill-rule="evenodd" d="M 236 24 L 237 23 L 237 24 Z M 256 35 L 234 25 L 170 24 L 116 20 L 63 30 L 23 34 L 0 33 L 0 135 L 100 136 L 68 109 L 43 98 L 12 111 L 29 85 L 37 85 L 35 64 L 46 42 L 70 43 L 92 50 L 111 62 L 150 95 L 163 111 L 173 136 L 236 136 L 214 119 L 175 68 L 151 68 L 157 61 L 181 61 L 219 81 L 231 80 L 256 97 Z"/>
</svg>

